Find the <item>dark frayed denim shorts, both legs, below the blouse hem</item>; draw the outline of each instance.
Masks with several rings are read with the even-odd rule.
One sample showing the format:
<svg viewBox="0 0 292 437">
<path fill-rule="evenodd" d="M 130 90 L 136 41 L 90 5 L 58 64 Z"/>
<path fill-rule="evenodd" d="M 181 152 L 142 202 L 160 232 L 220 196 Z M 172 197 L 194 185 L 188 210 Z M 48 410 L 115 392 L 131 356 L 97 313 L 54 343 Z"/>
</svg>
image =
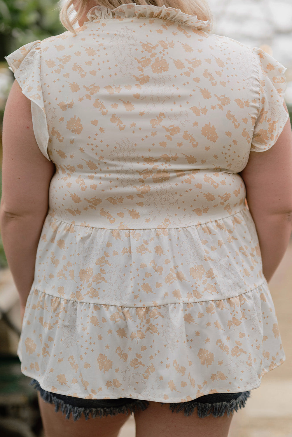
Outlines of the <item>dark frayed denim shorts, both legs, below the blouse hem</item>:
<svg viewBox="0 0 292 437">
<path fill-rule="evenodd" d="M 116 414 L 135 413 L 137 410 L 144 411 L 149 402 L 142 399 L 82 399 L 72 396 L 59 395 L 58 393 L 47 392 L 35 379 L 32 379 L 29 385 L 32 385 L 39 391 L 41 398 L 50 404 L 55 405 L 55 411 L 61 411 L 66 414 L 66 419 L 70 419 L 72 414 L 73 420 L 81 418 L 82 413 L 85 419 L 88 420 L 91 417 L 102 416 L 116 416 Z M 239 393 L 212 393 L 211 395 L 200 396 L 197 399 L 188 402 L 160 402 L 161 405 L 169 404 L 169 409 L 172 413 L 184 412 L 185 416 L 193 414 L 194 409 L 197 407 L 197 415 L 200 418 L 209 416 L 211 413 L 214 417 L 227 416 L 230 413 L 234 413 L 239 408 L 243 408 L 246 403 L 246 399 L 250 397 L 250 392 Z"/>
</svg>

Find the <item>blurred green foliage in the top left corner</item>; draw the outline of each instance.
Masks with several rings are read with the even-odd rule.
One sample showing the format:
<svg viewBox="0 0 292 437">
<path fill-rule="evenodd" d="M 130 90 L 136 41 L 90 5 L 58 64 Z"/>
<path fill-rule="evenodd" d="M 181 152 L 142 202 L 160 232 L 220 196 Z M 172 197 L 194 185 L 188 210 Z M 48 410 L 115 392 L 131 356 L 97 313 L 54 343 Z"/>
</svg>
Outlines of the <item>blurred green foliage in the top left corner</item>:
<svg viewBox="0 0 292 437">
<path fill-rule="evenodd" d="M 64 31 L 57 0 L 0 0 L 0 62 L 28 42 Z"/>
</svg>

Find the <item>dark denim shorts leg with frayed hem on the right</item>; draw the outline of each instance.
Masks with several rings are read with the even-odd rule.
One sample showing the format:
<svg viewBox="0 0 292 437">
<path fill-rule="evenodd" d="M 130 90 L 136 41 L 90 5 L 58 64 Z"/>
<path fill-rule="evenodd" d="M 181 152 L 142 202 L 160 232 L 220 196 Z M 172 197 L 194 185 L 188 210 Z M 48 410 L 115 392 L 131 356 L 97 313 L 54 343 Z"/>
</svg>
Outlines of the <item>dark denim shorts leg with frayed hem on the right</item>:
<svg viewBox="0 0 292 437">
<path fill-rule="evenodd" d="M 246 404 L 246 400 L 250 397 L 250 392 L 242 392 L 241 395 L 237 399 L 232 399 L 229 402 L 179 402 L 179 403 L 170 403 L 169 409 L 172 410 L 172 413 L 176 411 L 179 413 L 180 411 L 184 411 L 185 416 L 190 416 L 193 414 L 194 409 L 197 407 L 197 415 L 200 418 L 204 418 L 209 416 L 211 413 L 214 417 L 224 416 L 227 413 L 227 416 L 230 416 L 230 413 L 234 413 L 234 411 L 238 411 L 239 408 L 243 408 Z M 166 402 L 160 402 L 161 405 L 164 405 Z"/>
</svg>

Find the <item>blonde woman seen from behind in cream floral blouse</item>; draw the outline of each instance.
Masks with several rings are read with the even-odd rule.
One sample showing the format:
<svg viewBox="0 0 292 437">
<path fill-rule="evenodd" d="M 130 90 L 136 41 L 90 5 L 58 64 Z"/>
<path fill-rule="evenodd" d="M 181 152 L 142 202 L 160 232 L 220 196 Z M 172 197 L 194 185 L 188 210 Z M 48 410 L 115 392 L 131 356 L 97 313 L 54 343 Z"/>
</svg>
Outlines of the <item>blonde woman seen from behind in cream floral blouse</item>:
<svg viewBox="0 0 292 437">
<path fill-rule="evenodd" d="M 203 1 L 96 4 L 7 56 L 21 369 L 47 436 L 117 436 L 129 412 L 137 437 L 227 436 L 285 361 L 267 286 L 292 229 L 285 68 L 212 35 Z"/>
</svg>

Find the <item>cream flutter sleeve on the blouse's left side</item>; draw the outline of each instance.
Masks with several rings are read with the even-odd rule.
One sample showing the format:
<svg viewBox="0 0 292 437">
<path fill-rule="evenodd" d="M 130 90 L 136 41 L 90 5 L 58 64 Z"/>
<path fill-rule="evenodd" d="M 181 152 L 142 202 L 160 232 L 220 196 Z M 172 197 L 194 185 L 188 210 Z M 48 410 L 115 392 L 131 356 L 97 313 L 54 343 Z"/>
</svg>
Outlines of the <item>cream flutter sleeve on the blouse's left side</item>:
<svg viewBox="0 0 292 437">
<path fill-rule="evenodd" d="M 9 69 L 14 73 L 22 93 L 31 101 L 32 125 L 36 142 L 44 156 L 48 155 L 49 131 L 42 96 L 40 77 L 41 42 L 34 41 L 5 56 Z"/>
</svg>

